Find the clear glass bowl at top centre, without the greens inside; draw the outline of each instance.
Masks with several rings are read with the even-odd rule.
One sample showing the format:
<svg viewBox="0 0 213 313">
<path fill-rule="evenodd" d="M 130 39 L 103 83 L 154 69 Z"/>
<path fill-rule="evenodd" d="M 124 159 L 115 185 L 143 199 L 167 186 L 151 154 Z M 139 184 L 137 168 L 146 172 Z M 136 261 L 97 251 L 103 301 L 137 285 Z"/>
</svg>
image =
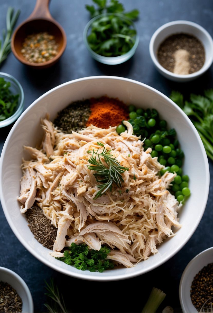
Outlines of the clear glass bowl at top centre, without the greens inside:
<svg viewBox="0 0 213 313">
<path fill-rule="evenodd" d="M 136 30 L 136 35 L 135 35 L 135 43 L 134 43 L 133 47 L 128 52 L 126 52 L 125 54 L 119 55 L 117 57 L 106 57 L 106 56 L 97 54 L 96 52 L 94 52 L 90 48 L 88 41 L 87 41 L 87 36 L 91 30 L 92 23 L 94 21 L 96 21 L 97 19 L 102 18 L 103 16 L 107 16 L 107 15 L 119 16 L 123 20 L 128 21 L 128 23 L 131 22 L 132 29 L 136 30 L 135 24 L 129 18 L 126 18 L 125 16 L 118 14 L 118 13 L 103 13 L 103 14 L 100 14 L 100 15 L 92 18 L 87 23 L 86 27 L 84 28 L 84 32 L 83 32 L 84 44 L 86 45 L 87 50 L 90 52 L 92 58 L 97 60 L 98 62 L 101 62 L 103 64 L 109 64 L 109 65 L 121 64 L 123 62 L 126 62 L 128 59 L 130 59 L 135 54 L 135 50 L 136 50 L 138 43 L 139 43 L 139 35 L 138 35 L 137 30 Z"/>
</svg>

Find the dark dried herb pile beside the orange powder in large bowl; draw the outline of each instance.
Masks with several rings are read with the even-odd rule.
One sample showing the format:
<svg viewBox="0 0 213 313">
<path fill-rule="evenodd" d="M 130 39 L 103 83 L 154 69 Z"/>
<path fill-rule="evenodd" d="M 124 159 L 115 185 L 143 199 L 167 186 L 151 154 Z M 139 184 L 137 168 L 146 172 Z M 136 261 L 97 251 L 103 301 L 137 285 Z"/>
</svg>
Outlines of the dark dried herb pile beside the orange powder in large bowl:
<svg viewBox="0 0 213 313">
<path fill-rule="evenodd" d="M 60 111 L 53 123 L 64 133 L 70 134 L 87 127 L 90 114 L 90 100 L 75 101 Z"/>
</svg>

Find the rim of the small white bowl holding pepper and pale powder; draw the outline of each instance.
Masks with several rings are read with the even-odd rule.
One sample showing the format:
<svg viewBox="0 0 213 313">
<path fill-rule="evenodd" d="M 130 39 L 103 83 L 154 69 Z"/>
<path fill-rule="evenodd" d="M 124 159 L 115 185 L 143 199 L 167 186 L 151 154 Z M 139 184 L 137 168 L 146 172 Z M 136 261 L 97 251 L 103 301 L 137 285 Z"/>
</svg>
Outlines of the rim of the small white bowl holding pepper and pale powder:
<svg viewBox="0 0 213 313">
<path fill-rule="evenodd" d="M 199 69 L 197 72 L 192 73 L 192 74 L 174 74 L 170 71 L 168 71 L 167 69 L 165 69 L 157 60 L 156 56 L 155 56 L 155 52 L 154 52 L 154 43 L 155 40 L 157 38 L 157 36 L 161 33 L 161 31 L 163 31 L 166 28 L 170 28 L 173 25 L 190 25 L 196 29 L 199 29 L 208 39 L 209 44 L 211 46 L 211 50 L 212 50 L 212 54 L 211 57 L 208 59 L 208 61 L 206 62 L 206 64 L 204 64 L 201 69 Z M 184 32 L 183 32 L 184 33 Z M 172 34 L 172 33 L 171 33 Z M 169 35 L 167 35 L 166 37 L 168 37 Z M 165 37 L 165 38 L 166 38 Z M 165 39 L 164 38 L 164 39 Z M 177 21 L 172 21 L 166 24 L 163 24 L 162 26 L 160 26 L 152 35 L 151 39 L 150 39 L 150 44 L 149 44 L 149 52 L 150 52 L 150 56 L 151 59 L 153 61 L 153 63 L 155 64 L 155 66 L 162 72 L 164 72 L 167 76 L 173 77 L 173 78 L 179 78 L 181 80 L 188 80 L 189 78 L 196 78 L 197 76 L 200 76 L 201 74 L 203 74 L 204 72 L 206 72 L 206 70 L 211 66 L 212 62 L 213 62 L 213 39 L 210 35 L 210 33 L 207 32 L 207 30 L 205 28 L 203 28 L 201 25 L 191 22 L 191 21 L 186 21 L 186 20 L 177 20 Z"/>
</svg>

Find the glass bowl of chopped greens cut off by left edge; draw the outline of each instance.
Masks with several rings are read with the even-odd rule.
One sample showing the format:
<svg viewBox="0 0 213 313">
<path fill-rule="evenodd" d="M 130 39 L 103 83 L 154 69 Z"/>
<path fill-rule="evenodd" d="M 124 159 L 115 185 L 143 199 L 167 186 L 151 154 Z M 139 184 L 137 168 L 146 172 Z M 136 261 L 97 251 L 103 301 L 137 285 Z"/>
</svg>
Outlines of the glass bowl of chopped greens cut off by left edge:
<svg viewBox="0 0 213 313">
<path fill-rule="evenodd" d="M 13 76 L 0 72 L 0 128 L 16 121 L 23 106 L 22 86 Z"/>
</svg>

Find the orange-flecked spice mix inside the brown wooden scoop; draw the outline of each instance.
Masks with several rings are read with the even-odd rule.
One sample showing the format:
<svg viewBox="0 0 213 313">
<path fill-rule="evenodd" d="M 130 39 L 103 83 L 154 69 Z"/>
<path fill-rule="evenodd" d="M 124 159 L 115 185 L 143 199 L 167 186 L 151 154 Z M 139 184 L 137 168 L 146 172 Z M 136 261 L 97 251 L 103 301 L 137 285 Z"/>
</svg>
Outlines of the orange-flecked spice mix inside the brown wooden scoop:
<svg viewBox="0 0 213 313">
<path fill-rule="evenodd" d="M 58 54 L 58 45 L 47 32 L 32 34 L 24 39 L 21 53 L 31 63 L 44 63 Z"/>
</svg>

